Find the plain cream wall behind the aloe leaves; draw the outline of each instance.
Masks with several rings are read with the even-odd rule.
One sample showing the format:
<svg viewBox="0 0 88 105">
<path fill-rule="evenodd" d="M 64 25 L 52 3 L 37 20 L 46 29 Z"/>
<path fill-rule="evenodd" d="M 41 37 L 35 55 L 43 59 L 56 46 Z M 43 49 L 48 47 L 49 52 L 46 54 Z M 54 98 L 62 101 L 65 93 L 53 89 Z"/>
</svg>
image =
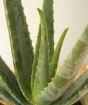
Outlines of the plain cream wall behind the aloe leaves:
<svg viewBox="0 0 88 105">
<path fill-rule="evenodd" d="M 41 8 L 42 0 L 22 0 L 22 3 L 27 16 L 33 46 L 35 46 L 39 23 L 37 8 Z M 88 24 L 88 0 L 54 0 L 54 10 L 55 45 L 64 28 L 70 28 L 62 48 L 60 58 L 60 63 L 62 63 L 86 24 Z M 0 55 L 13 69 L 3 0 L 0 0 Z"/>
</svg>

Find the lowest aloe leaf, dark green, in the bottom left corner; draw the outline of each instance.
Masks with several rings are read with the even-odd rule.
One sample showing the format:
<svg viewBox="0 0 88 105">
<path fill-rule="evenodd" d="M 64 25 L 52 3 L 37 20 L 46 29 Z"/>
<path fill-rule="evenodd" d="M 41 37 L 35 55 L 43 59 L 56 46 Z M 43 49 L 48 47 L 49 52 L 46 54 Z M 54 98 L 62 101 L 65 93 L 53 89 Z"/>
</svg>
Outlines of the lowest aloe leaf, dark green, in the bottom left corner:
<svg viewBox="0 0 88 105">
<path fill-rule="evenodd" d="M 0 98 L 11 105 L 21 105 L 3 87 L 0 87 Z"/>
</svg>

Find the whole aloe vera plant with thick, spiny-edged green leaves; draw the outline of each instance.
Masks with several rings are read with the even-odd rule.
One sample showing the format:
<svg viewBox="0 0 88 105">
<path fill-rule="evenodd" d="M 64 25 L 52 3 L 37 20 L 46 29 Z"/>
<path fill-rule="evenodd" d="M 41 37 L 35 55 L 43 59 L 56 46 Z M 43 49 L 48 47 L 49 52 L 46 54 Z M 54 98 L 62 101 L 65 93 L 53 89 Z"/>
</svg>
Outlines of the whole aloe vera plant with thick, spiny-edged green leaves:
<svg viewBox="0 0 88 105">
<path fill-rule="evenodd" d="M 1 100 L 10 105 L 73 105 L 81 100 L 88 92 L 88 70 L 76 76 L 88 54 L 88 25 L 57 71 L 68 28 L 54 50 L 53 0 L 43 0 L 42 10 L 38 9 L 35 53 L 21 0 L 3 0 L 3 4 L 15 72 L 0 57 Z"/>
</svg>

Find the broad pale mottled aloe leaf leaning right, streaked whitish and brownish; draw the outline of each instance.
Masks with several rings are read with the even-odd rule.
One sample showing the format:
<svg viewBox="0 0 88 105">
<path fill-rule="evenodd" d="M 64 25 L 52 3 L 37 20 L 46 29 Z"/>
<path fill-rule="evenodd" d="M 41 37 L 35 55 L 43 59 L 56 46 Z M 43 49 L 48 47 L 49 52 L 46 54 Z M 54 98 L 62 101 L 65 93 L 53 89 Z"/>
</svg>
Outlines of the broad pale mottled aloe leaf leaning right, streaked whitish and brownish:
<svg viewBox="0 0 88 105">
<path fill-rule="evenodd" d="M 36 97 L 35 103 L 38 105 L 49 105 L 60 98 L 71 85 L 74 77 L 84 62 L 88 54 L 88 25 L 83 34 L 67 56 L 59 72 L 49 83 L 49 85 Z"/>
</svg>

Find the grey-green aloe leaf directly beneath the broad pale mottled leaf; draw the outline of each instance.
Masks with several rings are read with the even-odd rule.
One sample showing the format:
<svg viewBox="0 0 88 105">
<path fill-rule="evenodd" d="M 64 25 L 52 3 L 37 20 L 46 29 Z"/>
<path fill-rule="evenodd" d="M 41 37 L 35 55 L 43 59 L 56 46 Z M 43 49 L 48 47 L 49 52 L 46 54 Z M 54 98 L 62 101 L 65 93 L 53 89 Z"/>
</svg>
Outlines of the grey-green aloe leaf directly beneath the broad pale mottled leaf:
<svg viewBox="0 0 88 105">
<path fill-rule="evenodd" d="M 68 99 L 71 99 L 74 93 L 76 93 L 88 80 L 88 70 L 86 70 L 80 77 L 75 79 L 71 86 L 67 89 L 64 95 L 54 102 L 52 105 L 63 105 Z"/>
</svg>

